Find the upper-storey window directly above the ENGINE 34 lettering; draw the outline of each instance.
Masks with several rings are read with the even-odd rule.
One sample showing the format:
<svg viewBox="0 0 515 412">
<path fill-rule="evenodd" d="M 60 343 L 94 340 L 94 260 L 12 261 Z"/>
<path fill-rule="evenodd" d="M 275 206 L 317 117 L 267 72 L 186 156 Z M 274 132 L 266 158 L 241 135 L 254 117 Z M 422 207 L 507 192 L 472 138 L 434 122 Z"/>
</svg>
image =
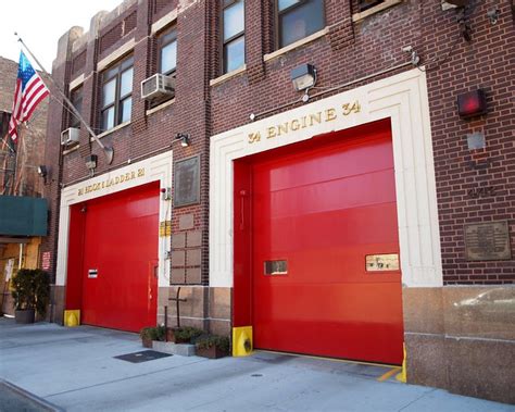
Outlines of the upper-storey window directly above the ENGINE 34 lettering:
<svg viewBox="0 0 515 412">
<path fill-rule="evenodd" d="M 279 48 L 325 27 L 324 0 L 278 0 Z"/>
</svg>

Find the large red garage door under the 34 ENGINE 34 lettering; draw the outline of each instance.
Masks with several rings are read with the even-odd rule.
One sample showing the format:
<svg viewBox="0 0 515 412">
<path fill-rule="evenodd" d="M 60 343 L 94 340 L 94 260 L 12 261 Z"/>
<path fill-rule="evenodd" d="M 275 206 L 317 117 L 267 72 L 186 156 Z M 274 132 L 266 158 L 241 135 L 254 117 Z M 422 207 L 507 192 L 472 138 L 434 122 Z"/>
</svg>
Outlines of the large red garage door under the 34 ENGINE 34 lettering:
<svg viewBox="0 0 515 412">
<path fill-rule="evenodd" d="M 399 364 L 401 274 L 380 267 L 399 254 L 389 125 L 327 140 L 251 165 L 254 345 Z"/>
</svg>

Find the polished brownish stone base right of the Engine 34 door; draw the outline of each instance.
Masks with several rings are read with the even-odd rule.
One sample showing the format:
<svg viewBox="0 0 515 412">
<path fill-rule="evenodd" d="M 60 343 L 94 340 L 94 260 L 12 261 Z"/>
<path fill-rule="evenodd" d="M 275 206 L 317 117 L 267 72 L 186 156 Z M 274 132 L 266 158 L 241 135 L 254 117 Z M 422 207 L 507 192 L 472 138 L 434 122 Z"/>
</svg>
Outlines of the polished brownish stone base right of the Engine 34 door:
<svg viewBox="0 0 515 412">
<path fill-rule="evenodd" d="M 404 288 L 407 382 L 515 403 L 515 287 Z"/>
</svg>

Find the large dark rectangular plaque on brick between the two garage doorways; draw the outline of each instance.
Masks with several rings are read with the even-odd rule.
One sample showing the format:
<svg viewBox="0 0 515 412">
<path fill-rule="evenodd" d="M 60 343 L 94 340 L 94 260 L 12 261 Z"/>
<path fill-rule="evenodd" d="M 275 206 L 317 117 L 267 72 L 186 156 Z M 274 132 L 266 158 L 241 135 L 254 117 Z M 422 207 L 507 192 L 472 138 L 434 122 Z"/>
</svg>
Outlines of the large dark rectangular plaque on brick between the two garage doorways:
<svg viewBox="0 0 515 412">
<path fill-rule="evenodd" d="M 200 155 L 177 161 L 174 174 L 174 207 L 200 202 Z"/>
</svg>

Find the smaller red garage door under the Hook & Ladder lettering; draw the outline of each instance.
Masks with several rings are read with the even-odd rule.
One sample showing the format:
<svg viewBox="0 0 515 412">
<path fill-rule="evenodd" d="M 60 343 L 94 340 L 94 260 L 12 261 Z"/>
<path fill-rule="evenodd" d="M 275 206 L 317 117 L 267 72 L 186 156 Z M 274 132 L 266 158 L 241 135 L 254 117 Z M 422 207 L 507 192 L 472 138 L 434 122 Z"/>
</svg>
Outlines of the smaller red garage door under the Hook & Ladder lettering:
<svg viewBox="0 0 515 412">
<path fill-rule="evenodd" d="M 85 324 L 131 332 L 155 325 L 159 199 L 155 183 L 87 202 Z"/>
</svg>

